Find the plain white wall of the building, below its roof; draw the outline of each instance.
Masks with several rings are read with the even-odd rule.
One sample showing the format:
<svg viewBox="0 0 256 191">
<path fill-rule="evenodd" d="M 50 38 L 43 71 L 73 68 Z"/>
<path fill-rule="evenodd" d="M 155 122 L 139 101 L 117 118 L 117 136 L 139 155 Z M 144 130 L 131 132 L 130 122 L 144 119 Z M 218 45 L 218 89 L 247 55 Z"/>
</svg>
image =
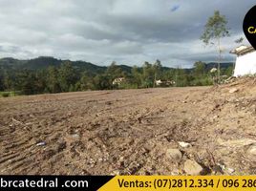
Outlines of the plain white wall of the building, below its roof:
<svg viewBox="0 0 256 191">
<path fill-rule="evenodd" d="M 234 76 L 256 74 L 256 52 L 237 57 Z"/>
</svg>

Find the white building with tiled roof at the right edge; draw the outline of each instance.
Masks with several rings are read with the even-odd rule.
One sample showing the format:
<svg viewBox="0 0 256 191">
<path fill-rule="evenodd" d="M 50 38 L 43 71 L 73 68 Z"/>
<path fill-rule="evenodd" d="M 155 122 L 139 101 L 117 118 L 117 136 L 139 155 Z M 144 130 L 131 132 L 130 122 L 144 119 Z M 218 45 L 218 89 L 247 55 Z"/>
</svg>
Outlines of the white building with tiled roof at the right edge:
<svg viewBox="0 0 256 191">
<path fill-rule="evenodd" d="M 234 76 L 256 74 L 256 51 L 253 47 L 243 45 L 230 53 L 237 54 Z"/>
</svg>

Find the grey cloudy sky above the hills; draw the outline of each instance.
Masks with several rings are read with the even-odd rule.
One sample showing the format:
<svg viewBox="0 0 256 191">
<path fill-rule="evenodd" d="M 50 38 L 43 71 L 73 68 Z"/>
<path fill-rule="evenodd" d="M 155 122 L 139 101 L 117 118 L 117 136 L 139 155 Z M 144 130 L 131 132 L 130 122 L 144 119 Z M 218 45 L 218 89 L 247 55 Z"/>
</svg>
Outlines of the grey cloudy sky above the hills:
<svg viewBox="0 0 256 191">
<path fill-rule="evenodd" d="M 216 61 L 214 46 L 199 39 L 215 10 L 228 20 L 225 61 L 244 36 L 245 13 L 255 0 L 0 0 L 0 57 L 50 55 L 98 65 L 169 67 Z M 247 42 L 245 41 L 244 44 Z"/>
</svg>

